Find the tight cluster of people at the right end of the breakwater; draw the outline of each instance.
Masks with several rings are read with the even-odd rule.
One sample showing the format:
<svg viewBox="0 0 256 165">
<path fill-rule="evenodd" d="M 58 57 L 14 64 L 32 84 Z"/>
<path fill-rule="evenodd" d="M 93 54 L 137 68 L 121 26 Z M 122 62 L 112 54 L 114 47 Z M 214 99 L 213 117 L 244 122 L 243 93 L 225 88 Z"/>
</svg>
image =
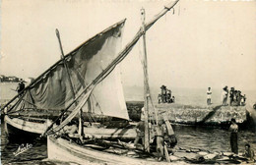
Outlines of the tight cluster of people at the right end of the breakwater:
<svg viewBox="0 0 256 165">
<path fill-rule="evenodd" d="M 227 86 L 224 86 L 224 90 L 222 93 L 223 96 L 223 105 L 227 105 L 227 96 L 228 96 L 228 89 Z M 246 101 L 245 94 L 241 94 L 240 90 L 234 89 L 234 87 L 230 88 L 229 91 L 229 105 L 230 106 L 244 106 Z"/>
</svg>

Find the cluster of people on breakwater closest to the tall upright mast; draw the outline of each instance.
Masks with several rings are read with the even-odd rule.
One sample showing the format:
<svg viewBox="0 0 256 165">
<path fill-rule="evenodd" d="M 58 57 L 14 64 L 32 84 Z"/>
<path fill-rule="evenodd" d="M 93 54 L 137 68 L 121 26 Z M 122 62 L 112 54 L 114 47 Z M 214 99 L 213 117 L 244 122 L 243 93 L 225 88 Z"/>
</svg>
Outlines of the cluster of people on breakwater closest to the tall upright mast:
<svg viewBox="0 0 256 165">
<path fill-rule="evenodd" d="M 168 89 L 165 85 L 160 86 L 160 94 L 158 96 L 159 104 L 160 103 L 174 103 L 175 96 L 171 96 L 171 90 Z"/>
</svg>

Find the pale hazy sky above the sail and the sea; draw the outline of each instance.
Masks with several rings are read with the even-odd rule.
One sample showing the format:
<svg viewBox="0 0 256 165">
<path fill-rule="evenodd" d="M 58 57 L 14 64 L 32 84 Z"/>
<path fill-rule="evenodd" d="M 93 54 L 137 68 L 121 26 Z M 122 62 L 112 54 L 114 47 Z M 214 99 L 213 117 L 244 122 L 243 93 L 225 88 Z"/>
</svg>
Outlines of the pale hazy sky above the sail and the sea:
<svg viewBox="0 0 256 165">
<path fill-rule="evenodd" d="M 169 1 L 2 0 L 0 74 L 37 77 L 85 40 L 127 18 L 122 45 Z M 256 89 L 256 1 L 181 0 L 147 32 L 150 84 Z M 138 42 L 122 62 L 125 85 L 142 85 Z"/>
</svg>

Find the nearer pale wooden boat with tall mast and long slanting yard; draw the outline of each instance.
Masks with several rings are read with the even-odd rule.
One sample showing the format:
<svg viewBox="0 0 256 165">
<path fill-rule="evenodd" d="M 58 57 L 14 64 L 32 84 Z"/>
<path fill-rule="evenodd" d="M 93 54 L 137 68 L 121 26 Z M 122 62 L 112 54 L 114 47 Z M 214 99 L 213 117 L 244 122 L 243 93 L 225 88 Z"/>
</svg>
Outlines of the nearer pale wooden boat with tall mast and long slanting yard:
<svg viewBox="0 0 256 165">
<path fill-rule="evenodd" d="M 85 88 L 83 88 L 83 92 L 79 94 L 71 104 L 74 104 L 76 100 L 79 100 L 76 104 L 75 108 L 72 110 L 70 115 L 66 117 L 60 125 L 54 127 L 52 123 L 50 127 L 47 128 L 46 132 L 43 134 L 47 136 L 47 152 L 48 158 L 53 160 L 61 160 L 68 162 L 77 162 L 81 164 L 85 164 L 88 161 L 96 162 L 96 163 L 112 163 L 112 164 L 156 164 L 155 159 L 153 161 L 149 161 L 146 159 L 135 159 L 134 157 L 129 157 L 127 149 L 133 148 L 129 146 L 129 143 L 124 143 L 120 140 L 109 141 L 109 140 L 95 140 L 94 138 L 85 138 L 82 134 L 83 132 L 78 131 L 78 137 L 70 137 L 63 134 L 58 134 L 61 132 L 66 125 L 68 125 L 71 121 L 74 120 L 76 115 L 80 113 L 82 107 L 84 107 L 90 100 L 91 95 L 96 90 L 97 85 L 105 82 L 108 78 L 111 78 L 111 75 L 114 73 L 117 65 L 128 55 L 136 42 L 140 39 L 141 36 L 144 36 L 145 43 L 145 32 L 147 29 L 152 27 L 161 16 L 163 16 L 167 11 L 169 11 L 178 1 L 175 1 L 171 5 L 165 7 L 160 14 L 149 24 L 145 24 L 143 22 L 143 27 L 137 32 L 135 37 L 132 39 L 130 43 L 126 45 L 126 47 L 118 53 L 118 55 L 99 73 L 94 80 L 91 80 L 91 83 L 88 83 Z M 144 12 L 142 12 L 144 14 Z M 114 27 L 111 27 L 109 30 L 113 30 Z M 111 32 L 112 33 L 112 32 Z M 104 36 L 104 33 L 101 33 L 100 36 Z M 101 52 L 99 50 L 98 52 Z M 146 56 L 146 46 L 144 54 Z M 97 59 L 98 60 L 98 59 Z M 150 134 L 150 124 L 149 124 L 149 101 L 150 101 L 150 91 L 149 91 L 149 83 L 148 83 L 148 73 L 147 73 L 147 58 L 144 59 L 143 63 L 144 67 L 144 76 L 145 76 L 145 145 L 144 149 L 146 152 L 150 152 L 150 137 L 153 134 Z M 108 82 L 113 83 L 113 82 Z M 102 95 L 101 95 L 102 96 Z M 117 97 L 118 95 L 116 95 Z M 100 97 L 100 96 L 99 96 Z M 119 97 L 118 97 L 119 98 Z M 68 107 L 69 108 L 69 107 Z M 65 112 L 68 111 L 68 108 L 63 111 L 60 115 L 63 116 Z M 121 114 L 124 114 L 123 112 Z M 158 113 L 154 113 L 156 115 L 156 119 L 158 119 Z M 60 118 L 59 117 L 59 118 Z M 81 116 L 80 116 L 81 117 Z M 120 116 L 119 116 L 120 117 Z M 124 116 L 122 116 L 124 118 Z M 167 120 L 165 120 L 166 124 L 168 124 Z M 158 120 L 157 120 L 158 124 Z M 81 126 L 81 125 L 79 125 Z M 151 126 L 153 128 L 154 126 Z M 158 127 L 158 126 L 156 126 Z M 81 128 L 81 127 L 79 127 Z M 167 127 L 168 133 L 171 128 Z M 172 131 L 173 134 L 173 131 Z M 85 135 L 86 131 L 85 131 Z M 82 137 L 82 138 L 81 138 Z M 155 136 L 154 136 L 155 137 Z M 77 140 L 77 139 L 81 140 Z M 103 145 L 97 145 L 101 143 Z M 115 150 L 113 147 L 117 147 L 119 149 Z M 125 151 L 120 150 L 121 148 L 126 148 Z M 135 148 L 133 148 L 135 149 Z M 168 152 L 165 149 L 165 157 L 168 159 Z M 119 153 L 127 153 L 125 155 L 122 154 L 114 154 L 118 151 Z M 138 151 L 138 150 L 137 150 Z"/>
</svg>

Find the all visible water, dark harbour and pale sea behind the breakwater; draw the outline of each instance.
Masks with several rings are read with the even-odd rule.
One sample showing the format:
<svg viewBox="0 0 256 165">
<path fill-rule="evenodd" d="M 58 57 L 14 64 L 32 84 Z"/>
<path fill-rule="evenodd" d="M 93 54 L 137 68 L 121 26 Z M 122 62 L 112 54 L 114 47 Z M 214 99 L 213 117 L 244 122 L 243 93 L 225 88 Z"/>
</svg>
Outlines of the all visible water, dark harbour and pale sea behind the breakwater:
<svg viewBox="0 0 256 165">
<path fill-rule="evenodd" d="M 10 99 L 16 92 L 10 88 L 16 88 L 17 83 L 0 83 L 0 99 Z M 133 91 L 134 90 L 134 91 Z M 125 91 L 127 100 L 141 100 L 141 88 L 131 88 Z M 158 89 L 152 90 L 153 95 L 158 95 Z M 204 94 L 202 94 L 203 92 Z M 213 102 L 220 102 L 220 95 L 218 90 L 213 90 Z M 175 94 L 174 94 L 175 93 Z M 173 94 L 179 103 L 188 104 L 205 104 L 205 90 L 191 89 L 191 90 L 173 90 Z M 220 94 L 220 95 L 219 95 Z M 247 97 L 250 95 L 246 93 Z M 253 97 L 253 92 L 251 92 Z M 156 100 L 156 99 L 155 99 Z M 218 102 L 219 101 L 219 102 Z M 210 151 L 230 151 L 229 147 L 229 133 L 227 128 L 209 128 L 209 127 L 190 127 L 190 126 L 173 126 L 173 130 L 178 138 L 177 147 L 201 148 Z M 249 142 L 256 150 L 256 133 L 249 130 L 240 130 L 238 134 L 239 152 L 243 151 L 244 144 Z M 4 134 L 4 125 L 1 124 L 1 163 L 2 164 L 57 164 L 56 162 L 41 161 L 47 157 L 46 141 L 38 141 L 32 145 L 32 148 L 14 156 L 19 145 L 22 143 L 32 143 L 30 139 L 20 139 L 11 141 Z M 63 163 L 61 163 L 63 164 Z"/>
</svg>

